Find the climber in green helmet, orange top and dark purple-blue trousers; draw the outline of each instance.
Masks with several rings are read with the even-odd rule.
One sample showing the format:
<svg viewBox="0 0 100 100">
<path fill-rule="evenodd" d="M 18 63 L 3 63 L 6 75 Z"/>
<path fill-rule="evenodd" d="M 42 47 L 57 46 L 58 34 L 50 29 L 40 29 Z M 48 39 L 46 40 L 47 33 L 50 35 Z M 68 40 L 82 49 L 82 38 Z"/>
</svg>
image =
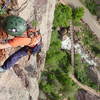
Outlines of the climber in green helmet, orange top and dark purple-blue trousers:
<svg viewBox="0 0 100 100">
<path fill-rule="evenodd" d="M 18 16 L 8 16 L 5 18 L 1 32 L 13 36 L 7 43 L 0 43 L 0 49 L 23 46 L 12 54 L 0 67 L 0 72 L 14 66 L 14 64 L 23 56 L 35 54 L 41 50 L 41 35 L 36 30 L 29 28 L 26 21 Z M 31 35 L 30 35 L 31 33 Z M 34 33 L 34 35 L 32 35 Z"/>
</svg>

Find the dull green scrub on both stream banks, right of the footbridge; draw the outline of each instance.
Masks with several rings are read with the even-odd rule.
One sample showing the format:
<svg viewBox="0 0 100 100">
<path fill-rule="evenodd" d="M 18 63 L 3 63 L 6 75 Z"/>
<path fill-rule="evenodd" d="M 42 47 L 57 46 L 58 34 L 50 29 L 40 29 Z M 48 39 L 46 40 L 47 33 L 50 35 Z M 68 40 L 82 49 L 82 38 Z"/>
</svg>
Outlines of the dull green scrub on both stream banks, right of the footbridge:
<svg viewBox="0 0 100 100">
<path fill-rule="evenodd" d="M 91 56 L 100 57 L 100 42 L 98 41 L 96 35 L 94 35 L 90 28 L 82 22 L 79 22 L 78 26 L 80 27 L 81 32 L 77 32 L 76 35 L 80 39 L 80 43 L 84 45 L 90 53 L 92 53 Z M 87 75 L 88 66 L 88 64 L 81 61 L 81 57 L 79 55 L 75 56 L 75 74 L 77 79 L 83 84 L 97 90 L 97 84 L 93 83 Z"/>
</svg>

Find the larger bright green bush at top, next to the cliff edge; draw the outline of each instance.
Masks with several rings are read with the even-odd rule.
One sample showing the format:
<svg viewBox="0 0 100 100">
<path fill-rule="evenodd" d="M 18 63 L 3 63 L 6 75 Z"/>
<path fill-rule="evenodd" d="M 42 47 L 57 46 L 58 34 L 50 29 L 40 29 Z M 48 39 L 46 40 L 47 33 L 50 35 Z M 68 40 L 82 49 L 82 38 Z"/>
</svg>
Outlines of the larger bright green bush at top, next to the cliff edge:
<svg viewBox="0 0 100 100">
<path fill-rule="evenodd" d="M 72 19 L 72 8 L 58 4 L 54 13 L 54 27 L 67 27 L 70 19 Z"/>
</svg>

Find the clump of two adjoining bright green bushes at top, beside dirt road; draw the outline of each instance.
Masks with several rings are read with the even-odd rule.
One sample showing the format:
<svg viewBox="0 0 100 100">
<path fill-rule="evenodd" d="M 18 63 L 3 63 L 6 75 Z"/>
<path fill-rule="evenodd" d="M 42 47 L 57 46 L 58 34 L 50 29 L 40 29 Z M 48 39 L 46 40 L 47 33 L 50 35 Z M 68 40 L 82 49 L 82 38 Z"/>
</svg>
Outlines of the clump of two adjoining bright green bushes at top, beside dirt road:
<svg viewBox="0 0 100 100">
<path fill-rule="evenodd" d="M 54 14 L 54 27 L 68 27 L 69 21 L 73 19 L 75 22 L 79 22 L 84 15 L 83 8 L 72 9 L 69 6 L 59 4 L 56 6 Z"/>
</svg>

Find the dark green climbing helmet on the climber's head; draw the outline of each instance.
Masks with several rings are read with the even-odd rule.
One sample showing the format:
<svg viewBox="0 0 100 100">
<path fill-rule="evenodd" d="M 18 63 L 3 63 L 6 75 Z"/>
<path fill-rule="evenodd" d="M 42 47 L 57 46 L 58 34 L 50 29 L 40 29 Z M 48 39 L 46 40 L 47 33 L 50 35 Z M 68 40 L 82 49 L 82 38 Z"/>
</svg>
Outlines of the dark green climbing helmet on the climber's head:
<svg viewBox="0 0 100 100">
<path fill-rule="evenodd" d="M 18 16 L 8 16 L 4 20 L 4 31 L 12 36 L 21 36 L 27 30 L 27 23 Z"/>
</svg>

